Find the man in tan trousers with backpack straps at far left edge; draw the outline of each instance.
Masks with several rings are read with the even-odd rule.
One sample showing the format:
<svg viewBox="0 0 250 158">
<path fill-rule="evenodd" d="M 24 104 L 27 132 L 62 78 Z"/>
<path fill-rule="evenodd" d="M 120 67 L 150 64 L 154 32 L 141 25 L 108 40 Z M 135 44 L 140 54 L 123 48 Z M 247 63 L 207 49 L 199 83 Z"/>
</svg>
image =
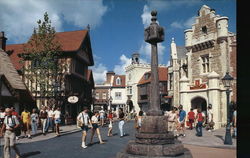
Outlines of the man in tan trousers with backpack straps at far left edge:
<svg viewBox="0 0 250 158">
<path fill-rule="evenodd" d="M 16 146 L 15 130 L 20 125 L 17 117 L 12 115 L 10 108 L 5 109 L 6 116 L 4 118 L 3 127 L 1 129 L 0 137 L 4 133 L 4 158 L 10 158 L 10 148 L 16 152 L 16 158 L 21 158 L 19 149 Z"/>
</svg>

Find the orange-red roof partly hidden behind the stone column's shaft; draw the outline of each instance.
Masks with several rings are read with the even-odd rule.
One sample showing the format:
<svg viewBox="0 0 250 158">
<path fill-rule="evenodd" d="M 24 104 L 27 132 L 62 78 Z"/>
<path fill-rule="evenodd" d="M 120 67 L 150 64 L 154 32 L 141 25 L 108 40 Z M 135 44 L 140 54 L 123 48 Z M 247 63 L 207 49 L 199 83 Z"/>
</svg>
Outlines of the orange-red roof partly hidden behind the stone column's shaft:
<svg viewBox="0 0 250 158">
<path fill-rule="evenodd" d="M 141 77 L 138 85 L 146 84 L 151 82 L 151 75 L 148 79 L 145 78 L 146 74 L 151 74 L 151 71 L 145 72 L 143 76 Z M 167 67 L 158 67 L 158 76 L 159 81 L 167 81 L 168 80 L 168 68 Z"/>
</svg>

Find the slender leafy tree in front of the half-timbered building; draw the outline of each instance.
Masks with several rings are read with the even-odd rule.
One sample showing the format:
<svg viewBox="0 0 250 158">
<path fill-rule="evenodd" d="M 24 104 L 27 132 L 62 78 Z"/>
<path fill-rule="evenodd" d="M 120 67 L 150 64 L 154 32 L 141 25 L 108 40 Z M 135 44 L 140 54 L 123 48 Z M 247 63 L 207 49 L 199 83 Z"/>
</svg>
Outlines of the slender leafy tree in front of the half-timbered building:
<svg viewBox="0 0 250 158">
<path fill-rule="evenodd" d="M 55 28 L 51 26 L 48 13 L 45 12 L 44 20 L 37 21 L 38 27 L 34 28 L 33 34 L 23 49 L 22 62 L 28 61 L 24 66 L 24 77 L 35 87 L 36 97 L 53 97 L 58 87 L 60 75 L 58 59 L 61 53 L 61 46 L 55 38 Z M 29 87 L 29 86 L 28 86 Z M 33 90 L 35 89 L 35 91 Z"/>
</svg>

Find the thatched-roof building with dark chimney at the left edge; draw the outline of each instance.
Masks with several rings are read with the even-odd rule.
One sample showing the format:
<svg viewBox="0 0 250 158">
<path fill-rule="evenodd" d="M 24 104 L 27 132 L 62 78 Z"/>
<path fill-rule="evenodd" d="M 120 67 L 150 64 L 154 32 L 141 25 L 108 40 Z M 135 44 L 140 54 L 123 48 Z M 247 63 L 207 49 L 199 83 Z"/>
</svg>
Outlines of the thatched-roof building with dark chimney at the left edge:
<svg viewBox="0 0 250 158">
<path fill-rule="evenodd" d="M 20 114 L 24 108 L 33 109 L 35 100 L 5 52 L 6 40 L 0 32 L 0 106 L 15 107 Z"/>
</svg>

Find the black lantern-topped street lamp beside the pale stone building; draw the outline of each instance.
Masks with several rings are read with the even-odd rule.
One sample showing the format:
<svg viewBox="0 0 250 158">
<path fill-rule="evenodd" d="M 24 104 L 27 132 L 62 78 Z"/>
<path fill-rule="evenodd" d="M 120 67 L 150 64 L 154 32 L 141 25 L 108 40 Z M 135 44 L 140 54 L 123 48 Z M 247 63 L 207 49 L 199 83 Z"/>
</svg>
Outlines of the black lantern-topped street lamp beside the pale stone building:
<svg viewBox="0 0 250 158">
<path fill-rule="evenodd" d="M 232 136 L 231 136 L 231 127 L 230 127 L 230 107 L 229 107 L 229 94 L 230 94 L 230 87 L 233 81 L 233 77 L 229 75 L 229 72 L 221 79 L 224 87 L 227 89 L 227 126 L 226 126 L 226 135 L 224 144 L 232 145 Z"/>
</svg>

